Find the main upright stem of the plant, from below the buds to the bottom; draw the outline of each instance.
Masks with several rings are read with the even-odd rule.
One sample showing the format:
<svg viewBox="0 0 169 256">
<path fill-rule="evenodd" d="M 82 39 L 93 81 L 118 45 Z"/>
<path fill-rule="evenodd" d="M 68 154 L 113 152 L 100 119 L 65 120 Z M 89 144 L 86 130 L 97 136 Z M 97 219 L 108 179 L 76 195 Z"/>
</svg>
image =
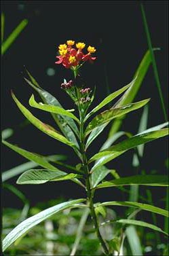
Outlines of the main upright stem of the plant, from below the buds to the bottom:
<svg viewBox="0 0 169 256">
<path fill-rule="evenodd" d="M 90 213 L 92 216 L 92 220 L 94 222 L 94 227 L 96 229 L 96 234 L 98 236 L 98 240 L 100 241 L 100 244 L 102 245 L 102 248 L 104 249 L 105 254 L 109 255 L 109 250 L 107 249 L 107 245 L 100 234 L 100 230 L 98 227 L 98 219 L 96 217 L 96 213 L 94 210 L 94 204 L 93 204 L 94 193 L 93 193 L 92 189 L 90 188 L 90 171 L 89 171 L 89 167 L 88 167 L 88 159 L 86 156 L 84 136 L 83 136 L 83 113 L 82 113 L 82 115 L 80 113 L 80 145 L 81 145 L 83 170 L 84 170 L 84 173 L 86 176 L 86 191 L 87 191 L 87 196 L 88 196 L 88 204 L 90 207 Z"/>
</svg>

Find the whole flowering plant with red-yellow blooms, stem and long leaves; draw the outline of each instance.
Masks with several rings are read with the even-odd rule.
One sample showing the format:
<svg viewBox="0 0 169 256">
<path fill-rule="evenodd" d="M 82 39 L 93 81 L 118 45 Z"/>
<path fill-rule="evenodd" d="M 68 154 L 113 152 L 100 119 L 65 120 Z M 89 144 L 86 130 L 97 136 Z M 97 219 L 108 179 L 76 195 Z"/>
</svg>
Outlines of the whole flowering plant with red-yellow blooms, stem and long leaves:
<svg viewBox="0 0 169 256">
<path fill-rule="evenodd" d="M 136 208 L 140 211 L 149 211 L 151 213 L 168 217 L 168 211 L 165 209 L 150 204 L 143 204 L 141 202 L 111 201 L 94 203 L 94 192 L 96 189 L 106 187 L 121 187 L 126 185 L 160 187 L 168 186 L 165 175 L 134 175 L 129 177 L 115 177 L 115 179 L 111 181 L 105 180 L 107 175 L 112 172 L 112 170 L 106 166 L 108 162 L 111 162 L 111 160 L 117 158 L 129 149 L 134 149 L 135 147 L 138 147 L 138 145 L 143 145 L 155 139 L 159 139 L 160 137 L 166 136 L 168 134 L 168 128 L 165 128 L 165 126 L 168 126 L 168 123 L 154 126 L 134 136 L 128 133 L 127 139 L 115 145 L 110 143 L 110 139 L 112 139 L 112 137 L 115 135 L 115 132 L 111 133 L 109 142 L 106 143 L 107 146 L 102 147 L 98 153 L 95 153 L 94 156 L 89 158 L 88 147 L 90 147 L 94 139 L 96 139 L 96 137 L 112 120 L 119 120 L 119 122 L 121 122 L 127 113 L 145 106 L 150 99 L 147 98 L 136 103 L 131 103 L 132 98 L 134 98 L 132 94 L 135 93 L 134 87 L 138 86 L 138 79 L 140 79 L 140 76 L 142 75 L 141 72 L 143 72 L 140 69 L 140 73 L 136 73 L 136 76 L 130 82 L 130 84 L 120 88 L 116 92 L 109 94 L 96 107 L 94 107 L 94 109 L 89 111 L 90 107 L 92 106 L 96 90 L 95 88 L 83 88 L 82 85 L 77 86 L 76 84 L 77 77 L 79 77 L 79 71 L 81 70 L 82 66 L 88 62 L 96 61 L 96 49 L 89 45 L 87 48 L 87 53 L 84 53 L 86 52 L 85 49 L 86 43 L 75 43 L 73 40 L 68 40 L 66 43 L 59 45 L 58 56 L 56 56 L 58 60 L 55 62 L 57 65 L 62 65 L 65 69 L 71 69 L 73 72 L 74 78 L 70 81 L 64 79 L 63 83 L 61 84 L 61 88 L 66 94 L 68 94 L 71 100 L 73 100 L 75 108 L 79 113 L 78 117 L 73 113 L 75 109 L 64 109 L 59 101 L 52 96 L 52 94 L 43 90 L 43 88 L 41 88 L 37 81 L 33 78 L 31 73 L 26 70 L 29 79 L 24 79 L 33 89 L 35 89 L 43 101 L 42 103 L 37 103 L 35 96 L 32 95 L 29 100 L 29 105 L 42 111 L 51 113 L 60 131 L 48 124 L 44 124 L 37 119 L 37 117 L 26 109 L 22 103 L 20 103 L 14 92 L 12 92 L 12 98 L 27 120 L 29 120 L 31 124 L 36 126 L 45 134 L 48 134 L 57 141 L 60 141 L 60 143 L 64 143 L 71 147 L 74 153 L 77 155 L 77 158 L 80 160 L 80 164 L 75 167 L 69 166 L 71 172 L 64 172 L 56 168 L 56 166 L 51 164 L 44 156 L 21 149 L 20 147 L 12 145 L 7 141 L 3 141 L 3 143 L 7 147 L 10 147 L 10 149 L 20 153 L 20 155 L 24 156 L 24 158 L 36 162 L 39 164 L 39 166 L 41 166 L 40 169 L 27 170 L 26 172 L 22 173 L 22 175 L 20 175 L 18 178 L 18 184 L 42 184 L 49 181 L 57 182 L 71 180 L 86 190 L 86 198 L 77 198 L 76 200 L 69 200 L 68 202 L 57 204 L 56 206 L 47 208 L 37 215 L 22 221 L 22 223 L 17 225 L 14 230 L 12 230 L 4 238 L 3 251 L 5 251 L 5 249 L 7 249 L 7 247 L 15 242 L 18 238 L 21 238 L 27 232 L 29 232 L 29 230 L 31 230 L 31 228 L 33 228 L 35 225 L 67 208 L 89 209 L 90 216 L 94 224 L 94 230 L 105 255 L 112 255 L 113 251 L 111 241 L 107 241 L 100 232 L 100 223 L 98 221 L 97 213 L 98 211 L 101 212 L 102 208 L 105 208 L 106 206 L 126 206 Z M 147 56 L 148 55 L 145 57 L 147 58 Z M 143 64 L 144 62 L 142 63 L 142 66 Z M 107 105 L 109 105 L 109 103 L 111 103 L 111 101 L 117 96 L 121 96 L 121 98 L 117 100 L 113 107 L 99 113 L 102 107 L 107 107 Z M 130 103 L 128 103 L 128 98 L 130 98 Z M 123 226 L 123 228 L 126 225 L 131 224 L 149 227 L 156 232 L 163 233 L 164 236 L 168 236 L 166 231 L 162 230 L 160 227 L 145 221 L 139 221 L 129 217 L 127 219 L 112 219 L 109 221 L 119 223 L 119 225 Z M 116 246 L 116 251 L 119 251 L 118 248 L 119 247 Z"/>
</svg>

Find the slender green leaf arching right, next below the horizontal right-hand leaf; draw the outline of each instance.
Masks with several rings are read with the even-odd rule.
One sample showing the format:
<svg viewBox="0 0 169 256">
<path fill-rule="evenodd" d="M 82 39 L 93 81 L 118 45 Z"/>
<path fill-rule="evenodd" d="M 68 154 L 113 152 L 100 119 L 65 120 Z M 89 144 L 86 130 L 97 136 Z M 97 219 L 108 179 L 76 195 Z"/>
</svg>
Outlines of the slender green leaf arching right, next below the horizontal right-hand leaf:
<svg viewBox="0 0 169 256">
<path fill-rule="evenodd" d="M 137 177 L 139 177 L 140 175 L 138 175 Z M 154 175 L 145 175 L 145 179 L 147 179 L 147 176 L 149 178 L 149 176 L 151 177 L 154 177 Z M 136 177 L 136 176 L 135 176 Z M 162 179 L 161 176 L 158 176 L 159 179 Z M 128 178 L 132 178 L 132 177 L 128 177 Z M 142 179 L 143 177 L 141 177 Z M 127 178 L 121 178 L 121 179 L 127 179 Z M 120 180 L 121 180 L 120 179 Z M 157 177 L 156 177 L 157 179 Z M 119 179 L 118 179 L 119 180 Z M 157 181 L 157 180 L 156 180 Z M 149 182 L 149 181 L 148 181 Z M 159 180 L 160 182 L 160 180 Z M 157 213 L 159 215 L 163 215 L 165 217 L 168 217 L 168 211 L 162 209 L 162 208 L 159 208 L 159 207 L 156 207 L 156 206 L 153 206 L 153 205 L 150 205 L 150 204 L 142 204 L 140 202 L 127 202 L 127 201 L 124 201 L 124 202 L 120 202 L 120 201 L 111 201 L 111 202 L 102 202 L 101 204 L 98 204 L 98 206 L 110 206 L 110 205 L 117 205 L 117 206 L 128 206 L 128 207 L 136 207 L 136 208 L 139 208 L 141 210 L 145 210 L 145 211 L 149 211 L 151 213 Z M 97 207 L 98 207 L 97 206 Z"/>
</svg>

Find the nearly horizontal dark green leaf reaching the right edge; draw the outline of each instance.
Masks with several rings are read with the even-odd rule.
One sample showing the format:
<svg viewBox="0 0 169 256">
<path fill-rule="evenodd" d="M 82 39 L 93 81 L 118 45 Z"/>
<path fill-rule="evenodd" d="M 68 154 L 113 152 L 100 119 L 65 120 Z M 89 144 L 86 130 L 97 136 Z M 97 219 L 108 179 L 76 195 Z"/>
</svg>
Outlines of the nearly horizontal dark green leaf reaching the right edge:
<svg viewBox="0 0 169 256">
<path fill-rule="evenodd" d="M 164 175 L 134 175 L 114 179 L 113 181 L 105 181 L 96 186 L 96 189 L 103 187 L 118 187 L 126 185 L 147 185 L 147 186 L 168 186 L 166 176 Z"/>
</svg>

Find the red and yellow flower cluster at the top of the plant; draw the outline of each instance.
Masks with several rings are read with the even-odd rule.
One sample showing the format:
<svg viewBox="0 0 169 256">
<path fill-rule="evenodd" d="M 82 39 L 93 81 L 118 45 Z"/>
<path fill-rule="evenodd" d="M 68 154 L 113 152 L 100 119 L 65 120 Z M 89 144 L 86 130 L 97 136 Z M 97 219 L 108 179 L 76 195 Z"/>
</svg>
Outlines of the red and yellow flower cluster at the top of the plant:
<svg viewBox="0 0 169 256">
<path fill-rule="evenodd" d="M 75 45 L 76 48 L 73 47 Z M 67 43 L 60 44 L 58 47 L 59 56 L 56 64 L 62 64 L 67 69 L 72 69 L 73 67 L 79 67 L 81 62 L 85 62 L 87 60 L 96 60 L 96 57 L 92 57 L 92 54 L 96 52 L 96 49 L 92 46 L 88 46 L 88 53 L 83 53 L 83 48 L 85 48 L 85 43 L 76 43 L 73 40 L 68 40 Z"/>
</svg>

